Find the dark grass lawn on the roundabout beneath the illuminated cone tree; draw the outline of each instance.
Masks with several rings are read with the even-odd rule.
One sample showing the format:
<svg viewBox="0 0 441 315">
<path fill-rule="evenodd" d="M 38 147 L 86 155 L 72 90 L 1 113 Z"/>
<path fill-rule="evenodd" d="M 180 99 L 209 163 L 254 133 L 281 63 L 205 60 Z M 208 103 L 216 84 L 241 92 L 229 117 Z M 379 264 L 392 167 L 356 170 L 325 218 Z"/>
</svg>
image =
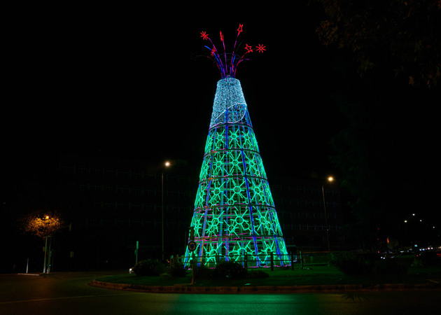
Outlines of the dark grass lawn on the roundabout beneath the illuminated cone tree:
<svg viewBox="0 0 441 315">
<path fill-rule="evenodd" d="M 383 283 L 428 283 L 441 282 L 441 267 L 409 267 L 407 274 L 377 274 L 370 276 L 348 276 L 336 267 L 310 266 L 304 269 L 262 268 L 269 277 L 264 279 L 195 279 L 195 286 L 311 286 L 326 284 L 362 284 Z M 172 276 L 137 276 L 135 274 L 117 274 L 96 279 L 111 283 L 131 283 L 144 286 L 188 285 L 191 272 L 185 277 Z"/>
</svg>

